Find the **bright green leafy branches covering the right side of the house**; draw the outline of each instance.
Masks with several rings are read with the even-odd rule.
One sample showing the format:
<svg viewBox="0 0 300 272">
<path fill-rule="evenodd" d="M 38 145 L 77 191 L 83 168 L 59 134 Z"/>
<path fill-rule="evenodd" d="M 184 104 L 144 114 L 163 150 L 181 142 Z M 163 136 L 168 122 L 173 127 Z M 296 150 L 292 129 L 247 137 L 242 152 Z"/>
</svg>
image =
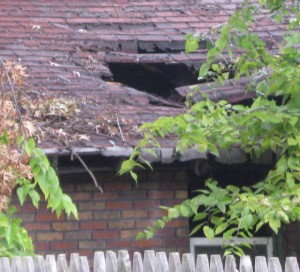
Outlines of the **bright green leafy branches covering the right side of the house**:
<svg viewBox="0 0 300 272">
<path fill-rule="evenodd" d="M 228 79 L 222 73 L 224 62 L 233 63 L 238 80 L 249 77 L 250 91 L 256 98 L 249 106 L 213 102 L 208 98 L 188 104 L 187 113 L 162 117 L 141 127 L 144 139 L 135 149 L 121 172 L 134 172 L 143 148 L 159 146 L 159 138 L 177 137 L 176 151 L 186 152 L 196 146 L 200 152 L 216 157 L 220 150 L 239 146 L 251 158 L 268 150 L 278 157 L 276 166 L 254 186 L 229 185 L 222 188 L 215 180 L 207 180 L 205 189 L 194 198 L 174 207 L 163 207 L 167 216 L 148 227 L 137 238 L 151 238 L 155 230 L 172 219 L 192 217 L 197 226 L 192 234 L 203 231 L 207 238 L 222 235 L 224 243 L 234 237 L 251 237 L 263 225 L 277 233 L 283 223 L 300 220 L 300 13 L 297 1 L 261 0 L 259 5 L 245 1 L 228 23 L 206 33 L 212 44 L 207 61 L 199 71 L 200 78 L 209 78 L 215 71 L 215 81 L 222 85 Z M 251 29 L 263 7 L 270 18 L 287 23 L 287 30 L 270 52 Z M 275 24 L 275 23 L 274 23 Z M 188 35 L 186 50 L 198 48 L 203 36 Z M 237 54 L 235 52 L 242 52 Z M 223 63 L 223 64 L 222 64 Z M 199 90 L 201 92 L 201 89 Z M 191 94 L 193 95 L 193 93 Z M 140 159 L 140 158 L 139 158 Z M 243 254 L 240 247 L 228 247 L 225 254 Z"/>
</svg>

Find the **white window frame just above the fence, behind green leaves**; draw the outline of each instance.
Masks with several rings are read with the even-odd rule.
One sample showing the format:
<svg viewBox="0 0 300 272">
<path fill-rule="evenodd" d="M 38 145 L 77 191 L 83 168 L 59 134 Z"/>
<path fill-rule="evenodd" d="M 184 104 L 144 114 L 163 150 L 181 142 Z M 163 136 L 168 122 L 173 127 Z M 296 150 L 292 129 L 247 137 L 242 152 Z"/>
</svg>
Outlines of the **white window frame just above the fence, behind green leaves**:
<svg viewBox="0 0 300 272">
<path fill-rule="evenodd" d="M 244 238 L 234 238 L 226 243 L 249 243 L 252 245 L 266 245 L 267 246 L 267 258 L 273 257 L 273 238 L 272 237 L 253 237 L 249 239 Z M 225 244 L 226 244 L 225 243 Z M 201 246 L 222 246 L 223 240 L 222 238 L 215 238 L 213 240 L 209 240 L 207 238 L 190 238 L 190 252 L 195 254 L 195 247 Z"/>
</svg>

